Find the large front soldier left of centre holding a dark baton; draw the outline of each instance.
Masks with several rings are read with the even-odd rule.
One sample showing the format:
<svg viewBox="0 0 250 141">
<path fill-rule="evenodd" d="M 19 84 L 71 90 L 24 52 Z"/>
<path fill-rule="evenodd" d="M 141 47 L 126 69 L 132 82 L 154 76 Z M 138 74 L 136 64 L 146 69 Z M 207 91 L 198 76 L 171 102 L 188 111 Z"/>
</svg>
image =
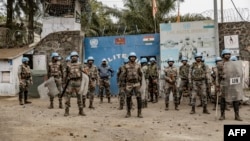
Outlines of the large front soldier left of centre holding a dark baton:
<svg viewBox="0 0 250 141">
<path fill-rule="evenodd" d="M 64 116 L 69 115 L 69 107 L 70 107 L 70 98 L 72 94 L 75 92 L 77 96 L 77 105 L 79 108 L 79 115 L 86 116 L 83 112 L 83 104 L 82 104 L 82 95 L 79 94 L 79 90 L 82 82 L 82 72 L 86 71 L 82 67 L 81 63 L 78 62 L 78 53 L 76 51 L 71 52 L 70 54 L 71 62 L 67 64 L 65 69 L 65 84 L 67 86 L 65 93 L 65 114 Z M 65 86 L 65 87 L 66 87 Z"/>
</svg>

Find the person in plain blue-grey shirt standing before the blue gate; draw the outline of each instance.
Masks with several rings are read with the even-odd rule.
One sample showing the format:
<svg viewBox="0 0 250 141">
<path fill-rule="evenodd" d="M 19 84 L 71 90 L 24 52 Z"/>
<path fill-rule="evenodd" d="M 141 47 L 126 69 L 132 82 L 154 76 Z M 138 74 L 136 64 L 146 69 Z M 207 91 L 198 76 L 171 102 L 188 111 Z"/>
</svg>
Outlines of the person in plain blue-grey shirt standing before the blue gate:
<svg viewBox="0 0 250 141">
<path fill-rule="evenodd" d="M 103 94 L 104 89 L 106 93 L 106 97 L 108 98 L 108 103 L 110 102 L 111 92 L 110 92 L 110 81 L 109 79 L 113 77 L 114 71 L 113 69 L 107 64 L 106 59 L 102 59 L 102 64 L 98 67 L 99 72 L 99 96 L 100 96 L 100 103 L 103 102 Z"/>
</svg>

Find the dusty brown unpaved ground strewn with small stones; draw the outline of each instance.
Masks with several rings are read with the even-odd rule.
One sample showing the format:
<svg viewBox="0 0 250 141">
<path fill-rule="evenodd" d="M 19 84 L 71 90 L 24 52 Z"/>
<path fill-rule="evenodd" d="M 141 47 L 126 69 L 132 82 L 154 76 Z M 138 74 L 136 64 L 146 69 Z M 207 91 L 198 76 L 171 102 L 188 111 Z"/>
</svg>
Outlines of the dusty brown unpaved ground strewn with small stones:
<svg viewBox="0 0 250 141">
<path fill-rule="evenodd" d="M 76 98 L 71 99 L 70 116 L 64 117 L 64 109 L 47 109 L 49 100 L 31 99 L 32 104 L 20 106 L 17 97 L 0 98 L 1 141 L 222 141 L 224 124 L 250 124 L 250 107 L 242 106 L 240 115 L 244 121 L 234 120 L 233 111 L 226 112 L 226 120 L 215 120 L 215 111 L 209 104 L 210 115 L 190 115 L 191 107 L 184 101 L 180 111 L 164 110 L 164 99 L 149 103 L 143 109 L 144 118 L 124 118 L 126 111 L 117 110 L 118 99 L 112 104 L 105 99 L 99 104 L 95 98 L 95 110 L 84 108 L 87 116 L 78 116 Z M 136 100 L 133 99 L 136 104 Z M 56 100 L 56 102 L 58 102 Z M 88 102 L 87 102 L 88 105 Z M 219 112 L 218 112 L 219 113 Z"/>
</svg>

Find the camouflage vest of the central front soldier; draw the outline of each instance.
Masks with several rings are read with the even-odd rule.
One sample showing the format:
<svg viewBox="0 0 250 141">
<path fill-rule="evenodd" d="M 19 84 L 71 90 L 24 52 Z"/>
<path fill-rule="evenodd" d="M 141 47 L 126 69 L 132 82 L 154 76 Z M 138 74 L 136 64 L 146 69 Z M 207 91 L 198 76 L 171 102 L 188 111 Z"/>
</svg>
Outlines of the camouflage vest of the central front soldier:
<svg viewBox="0 0 250 141">
<path fill-rule="evenodd" d="M 141 76 L 138 74 L 138 70 L 140 69 L 139 64 L 126 64 L 125 69 L 127 82 L 137 83 L 140 81 Z"/>
</svg>

